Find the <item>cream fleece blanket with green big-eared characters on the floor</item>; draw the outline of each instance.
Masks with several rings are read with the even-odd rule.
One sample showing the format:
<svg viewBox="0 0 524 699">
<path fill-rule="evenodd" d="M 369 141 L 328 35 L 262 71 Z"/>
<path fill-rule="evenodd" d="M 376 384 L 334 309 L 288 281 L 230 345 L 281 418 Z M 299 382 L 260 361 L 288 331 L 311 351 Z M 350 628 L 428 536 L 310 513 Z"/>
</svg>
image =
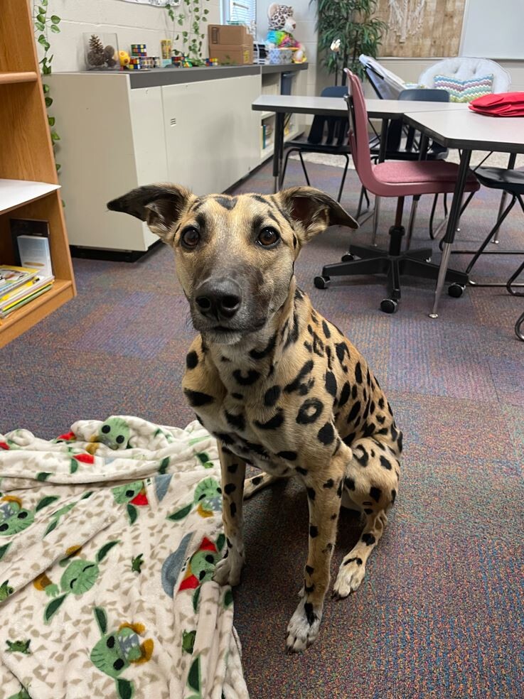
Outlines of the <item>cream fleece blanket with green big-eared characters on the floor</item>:
<svg viewBox="0 0 524 699">
<path fill-rule="evenodd" d="M 0 435 L 2 698 L 247 698 L 221 506 L 197 422 Z"/>
</svg>

